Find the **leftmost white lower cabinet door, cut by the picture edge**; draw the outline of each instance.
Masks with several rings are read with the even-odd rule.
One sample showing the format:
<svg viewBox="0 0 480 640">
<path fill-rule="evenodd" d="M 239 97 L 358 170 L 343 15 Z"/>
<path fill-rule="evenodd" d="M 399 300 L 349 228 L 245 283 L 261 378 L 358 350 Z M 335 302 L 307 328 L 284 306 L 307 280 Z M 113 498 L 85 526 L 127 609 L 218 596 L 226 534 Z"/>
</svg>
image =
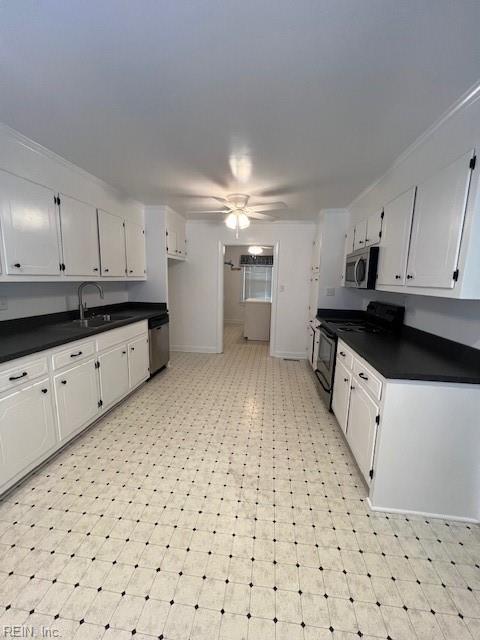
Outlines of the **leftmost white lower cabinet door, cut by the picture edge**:
<svg viewBox="0 0 480 640">
<path fill-rule="evenodd" d="M 48 378 L 0 400 L 0 487 L 55 445 Z"/>
</svg>

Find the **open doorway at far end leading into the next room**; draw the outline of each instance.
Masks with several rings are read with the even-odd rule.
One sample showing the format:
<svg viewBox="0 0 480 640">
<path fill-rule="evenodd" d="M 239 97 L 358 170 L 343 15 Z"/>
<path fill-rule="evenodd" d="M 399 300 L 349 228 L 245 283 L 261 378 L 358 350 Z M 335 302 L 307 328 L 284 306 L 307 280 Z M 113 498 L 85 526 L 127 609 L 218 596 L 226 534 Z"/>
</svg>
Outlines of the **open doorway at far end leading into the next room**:
<svg viewBox="0 0 480 640">
<path fill-rule="evenodd" d="M 229 346 L 258 344 L 269 346 L 273 355 L 277 262 L 273 244 L 220 244 L 219 353 Z"/>
</svg>

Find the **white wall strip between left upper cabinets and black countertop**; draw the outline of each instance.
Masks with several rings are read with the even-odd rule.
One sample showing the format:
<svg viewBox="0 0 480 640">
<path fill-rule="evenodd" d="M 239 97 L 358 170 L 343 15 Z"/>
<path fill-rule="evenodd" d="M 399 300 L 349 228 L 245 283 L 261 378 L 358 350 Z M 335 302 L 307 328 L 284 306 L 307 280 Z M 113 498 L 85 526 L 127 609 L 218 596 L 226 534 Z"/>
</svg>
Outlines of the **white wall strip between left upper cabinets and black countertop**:
<svg viewBox="0 0 480 640">
<path fill-rule="evenodd" d="M 46 313 L 78 309 L 78 282 L 25 282 L 0 284 L 0 299 L 6 299 L 8 309 L 0 310 L 0 320 L 25 318 Z M 123 282 L 102 282 L 105 299 L 95 288 L 85 290 L 89 307 L 126 302 L 128 294 Z"/>
</svg>

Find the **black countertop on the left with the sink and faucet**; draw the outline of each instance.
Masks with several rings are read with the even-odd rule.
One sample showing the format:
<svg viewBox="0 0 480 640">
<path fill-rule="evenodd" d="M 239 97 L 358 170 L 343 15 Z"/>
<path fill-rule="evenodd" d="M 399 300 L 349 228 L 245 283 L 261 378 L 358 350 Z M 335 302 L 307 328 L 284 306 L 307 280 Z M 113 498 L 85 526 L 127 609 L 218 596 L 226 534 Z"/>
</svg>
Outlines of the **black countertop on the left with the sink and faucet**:
<svg viewBox="0 0 480 640">
<path fill-rule="evenodd" d="M 101 327 L 80 327 L 72 320 L 78 311 L 64 311 L 42 316 L 0 322 L 0 363 L 82 340 L 111 329 L 167 314 L 165 303 L 125 302 L 88 310 L 87 315 L 113 314 L 114 321 Z"/>
</svg>

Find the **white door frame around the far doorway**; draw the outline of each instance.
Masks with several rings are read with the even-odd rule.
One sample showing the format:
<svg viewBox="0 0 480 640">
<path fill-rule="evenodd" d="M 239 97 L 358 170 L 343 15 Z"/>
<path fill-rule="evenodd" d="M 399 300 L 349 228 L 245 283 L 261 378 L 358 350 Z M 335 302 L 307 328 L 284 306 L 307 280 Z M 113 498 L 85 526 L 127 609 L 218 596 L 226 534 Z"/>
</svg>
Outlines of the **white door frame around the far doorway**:
<svg viewBox="0 0 480 640">
<path fill-rule="evenodd" d="M 245 244 L 267 244 L 273 247 L 273 267 L 272 267 L 272 313 L 270 316 L 270 355 L 275 357 L 276 355 L 276 343 L 277 343 L 277 293 L 278 293 L 278 266 L 280 257 L 280 243 L 268 242 L 262 240 L 261 242 L 250 241 L 245 243 L 245 240 L 229 240 L 224 242 L 220 240 L 218 243 L 218 266 L 217 266 L 217 340 L 216 340 L 216 353 L 223 353 L 223 270 L 224 270 L 224 250 L 228 246 L 245 246 Z"/>
</svg>

